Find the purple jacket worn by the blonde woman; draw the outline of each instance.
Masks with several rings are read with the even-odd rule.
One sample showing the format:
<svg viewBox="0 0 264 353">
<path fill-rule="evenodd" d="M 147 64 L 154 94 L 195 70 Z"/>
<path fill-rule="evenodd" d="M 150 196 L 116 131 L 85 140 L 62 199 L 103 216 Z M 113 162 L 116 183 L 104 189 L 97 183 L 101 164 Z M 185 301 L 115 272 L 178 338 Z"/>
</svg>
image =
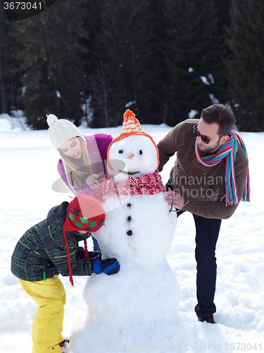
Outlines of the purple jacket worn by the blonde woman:
<svg viewBox="0 0 264 353">
<path fill-rule="evenodd" d="M 106 174 L 107 150 L 113 137 L 111 135 L 106 135 L 105 133 L 96 133 L 94 135 L 84 136 L 84 138 L 86 140 L 87 150 L 92 159 L 92 169 L 94 174 L 100 174 L 101 172 Z M 58 173 L 61 175 L 61 179 L 63 179 L 65 184 L 70 188 L 63 161 L 61 159 L 58 161 Z M 70 190 L 73 191 L 71 188 Z M 94 189 L 90 188 L 90 186 L 85 183 L 83 189 L 84 195 L 91 195 L 93 192 Z"/>
</svg>

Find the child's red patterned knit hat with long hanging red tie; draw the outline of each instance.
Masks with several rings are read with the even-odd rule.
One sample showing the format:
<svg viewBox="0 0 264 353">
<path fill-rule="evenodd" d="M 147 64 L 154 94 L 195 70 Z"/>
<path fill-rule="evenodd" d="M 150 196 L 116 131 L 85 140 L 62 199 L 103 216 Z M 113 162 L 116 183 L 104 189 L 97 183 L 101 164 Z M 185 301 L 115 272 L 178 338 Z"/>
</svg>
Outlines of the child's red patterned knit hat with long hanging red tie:
<svg viewBox="0 0 264 353">
<path fill-rule="evenodd" d="M 100 229 L 106 215 L 103 211 L 101 203 L 93 196 L 81 195 L 77 196 L 68 205 L 67 215 L 63 225 L 63 235 L 67 247 L 68 267 L 70 275 L 70 283 L 73 285 L 73 273 L 70 265 L 70 251 L 68 239 L 65 232 L 86 231 L 96 232 Z M 85 258 L 89 258 L 86 240 L 84 241 Z"/>
</svg>

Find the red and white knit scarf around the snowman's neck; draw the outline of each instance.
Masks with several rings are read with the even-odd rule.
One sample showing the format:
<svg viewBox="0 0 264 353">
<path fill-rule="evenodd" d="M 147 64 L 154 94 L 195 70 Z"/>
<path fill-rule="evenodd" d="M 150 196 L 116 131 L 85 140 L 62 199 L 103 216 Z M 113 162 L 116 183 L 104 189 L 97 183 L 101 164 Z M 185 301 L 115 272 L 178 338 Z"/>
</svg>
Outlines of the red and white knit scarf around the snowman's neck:
<svg viewBox="0 0 264 353">
<path fill-rule="evenodd" d="M 165 191 L 161 181 L 161 176 L 156 172 L 144 174 L 141 177 L 127 177 L 120 181 L 114 181 L 113 175 L 100 179 L 100 189 L 93 193 L 93 196 L 100 198 L 102 194 L 111 195 L 119 193 L 120 195 L 153 195 Z"/>
</svg>

